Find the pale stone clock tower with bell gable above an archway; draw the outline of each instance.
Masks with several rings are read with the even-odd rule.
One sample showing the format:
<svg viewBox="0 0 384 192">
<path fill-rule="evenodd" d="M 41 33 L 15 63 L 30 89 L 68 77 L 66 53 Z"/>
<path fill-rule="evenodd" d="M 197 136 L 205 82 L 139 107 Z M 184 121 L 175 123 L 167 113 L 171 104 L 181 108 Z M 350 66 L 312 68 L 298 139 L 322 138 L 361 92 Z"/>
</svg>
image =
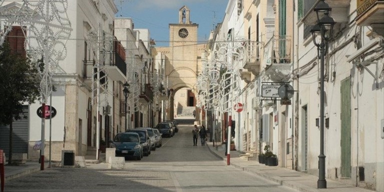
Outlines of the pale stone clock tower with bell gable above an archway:
<svg viewBox="0 0 384 192">
<path fill-rule="evenodd" d="M 178 23 L 169 24 L 169 46 L 156 47 L 156 51 L 165 58 L 164 75 L 169 79 L 167 88 L 172 90 L 169 105 L 167 104 L 170 106 L 167 108 L 167 119 L 173 119 L 177 115 L 175 103 L 178 103 L 177 106 L 196 105 L 197 76 L 202 70 L 201 57 L 206 46 L 206 42 L 199 44 L 197 41 L 199 25 L 190 20 L 190 9 L 187 6 L 181 7 L 178 16 Z"/>
</svg>

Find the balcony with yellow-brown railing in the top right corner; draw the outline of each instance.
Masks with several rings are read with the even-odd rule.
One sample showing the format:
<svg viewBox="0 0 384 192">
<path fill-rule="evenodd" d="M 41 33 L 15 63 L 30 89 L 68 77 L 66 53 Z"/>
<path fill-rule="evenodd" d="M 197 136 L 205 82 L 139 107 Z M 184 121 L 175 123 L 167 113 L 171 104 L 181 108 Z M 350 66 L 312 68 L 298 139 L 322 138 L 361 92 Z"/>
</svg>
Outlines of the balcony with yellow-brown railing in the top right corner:
<svg viewBox="0 0 384 192">
<path fill-rule="evenodd" d="M 357 0 L 356 24 L 371 26 L 373 31 L 384 36 L 384 0 Z"/>
</svg>

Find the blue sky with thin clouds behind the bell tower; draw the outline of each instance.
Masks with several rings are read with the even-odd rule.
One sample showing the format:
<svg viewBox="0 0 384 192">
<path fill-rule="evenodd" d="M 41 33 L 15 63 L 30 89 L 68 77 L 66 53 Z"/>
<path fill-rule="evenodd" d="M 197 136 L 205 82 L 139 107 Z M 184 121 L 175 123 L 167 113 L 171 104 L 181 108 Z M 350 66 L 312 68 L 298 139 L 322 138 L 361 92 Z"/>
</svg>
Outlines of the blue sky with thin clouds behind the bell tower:
<svg viewBox="0 0 384 192">
<path fill-rule="evenodd" d="M 169 45 L 169 23 L 178 23 L 179 9 L 187 5 L 190 20 L 199 24 L 198 41 L 205 41 L 223 21 L 228 0 L 115 0 L 116 17 L 130 17 L 135 28 L 148 28 L 155 46 Z"/>
</svg>

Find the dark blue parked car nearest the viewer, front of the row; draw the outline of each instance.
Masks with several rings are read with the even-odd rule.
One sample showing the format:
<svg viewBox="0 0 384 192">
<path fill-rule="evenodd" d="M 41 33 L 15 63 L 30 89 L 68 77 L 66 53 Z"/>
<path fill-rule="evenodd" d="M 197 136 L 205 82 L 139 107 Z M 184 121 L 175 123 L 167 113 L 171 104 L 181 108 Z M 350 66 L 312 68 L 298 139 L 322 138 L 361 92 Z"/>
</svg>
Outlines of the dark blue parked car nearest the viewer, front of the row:
<svg viewBox="0 0 384 192">
<path fill-rule="evenodd" d="M 140 144 L 140 136 L 136 132 L 121 132 L 110 140 L 112 146 L 116 148 L 116 156 L 135 157 L 141 160 L 143 157 L 143 147 Z"/>
</svg>

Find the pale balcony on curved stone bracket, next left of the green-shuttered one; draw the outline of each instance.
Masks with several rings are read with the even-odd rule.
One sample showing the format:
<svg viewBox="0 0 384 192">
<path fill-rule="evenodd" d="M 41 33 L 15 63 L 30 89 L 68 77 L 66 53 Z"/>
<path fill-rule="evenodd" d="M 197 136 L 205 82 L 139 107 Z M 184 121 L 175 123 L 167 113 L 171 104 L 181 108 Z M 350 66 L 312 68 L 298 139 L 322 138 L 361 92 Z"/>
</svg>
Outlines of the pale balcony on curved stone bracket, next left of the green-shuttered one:
<svg viewBox="0 0 384 192">
<path fill-rule="evenodd" d="M 244 60 L 243 68 L 248 69 L 254 75 L 260 72 L 260 52 L 262 43 L 257 41 L 248 40 L 246 46 L 246 58 Z"/>
</svg>

